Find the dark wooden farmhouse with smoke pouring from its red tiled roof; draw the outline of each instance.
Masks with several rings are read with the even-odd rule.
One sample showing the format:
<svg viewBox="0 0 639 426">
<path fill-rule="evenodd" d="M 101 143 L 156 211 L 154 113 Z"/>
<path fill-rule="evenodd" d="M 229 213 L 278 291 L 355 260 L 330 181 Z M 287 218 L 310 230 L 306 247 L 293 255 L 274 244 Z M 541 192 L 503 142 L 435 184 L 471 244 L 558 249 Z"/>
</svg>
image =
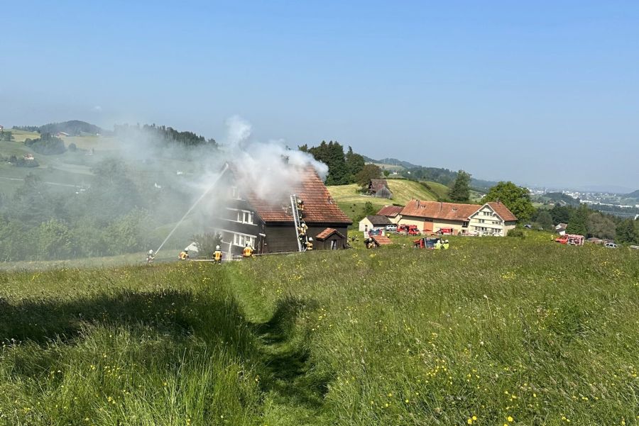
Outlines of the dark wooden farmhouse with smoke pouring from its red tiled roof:
<svg viewBox="0 0 639 426">
<path fill-rule="evenodd" d="M 293 166 L 288 166 L 293 167 Z M 290 191 L 304 202 L 303 220 L 314 250 L 337 250 L 347 246 L 347 228 L 352 220 L 340 210 L 313 167 L 297 170 L 300 181 Z M 297 251 L 297 228 L 290 195 L 265 199 L 252 189 L 243 193 L 233 166 L 224 174 L 224 208 L 214 217 L 214 231 L 222 235 L 222 250 L 241 254 L 246 244 L 256 254 Z"/>
</svg>

